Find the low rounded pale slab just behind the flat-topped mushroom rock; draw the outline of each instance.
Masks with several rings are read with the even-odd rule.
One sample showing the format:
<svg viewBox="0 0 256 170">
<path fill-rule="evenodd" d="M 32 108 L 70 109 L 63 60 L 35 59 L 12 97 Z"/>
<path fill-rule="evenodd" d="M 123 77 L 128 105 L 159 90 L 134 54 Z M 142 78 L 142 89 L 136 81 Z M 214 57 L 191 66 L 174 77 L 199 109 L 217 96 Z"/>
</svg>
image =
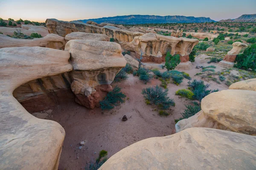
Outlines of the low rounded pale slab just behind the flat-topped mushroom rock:
<svg viewBox="0 0 256 170">
<path fill-rule="evenodd" d="M 66 42 L 69 40 L 98 40 L 98 41 L 110 41 L 110 38 L 104 34 L 93 34 L 85 32 L 72 32 L 65 37 Z"/>
</svg>

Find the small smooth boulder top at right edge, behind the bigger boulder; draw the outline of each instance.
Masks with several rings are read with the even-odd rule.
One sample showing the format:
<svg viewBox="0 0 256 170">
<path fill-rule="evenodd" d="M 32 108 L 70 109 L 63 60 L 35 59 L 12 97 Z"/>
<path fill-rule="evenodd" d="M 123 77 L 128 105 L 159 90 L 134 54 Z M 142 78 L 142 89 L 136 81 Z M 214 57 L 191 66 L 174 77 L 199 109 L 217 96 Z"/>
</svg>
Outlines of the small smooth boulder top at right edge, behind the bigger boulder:
<svg viewBox="0 0 256 170">
<path fill-rule="evenodd" d="M 232 85 L 230 85 L 229 89 L 256 91 L 256 78 L 235 82 Z"/>
</svg>

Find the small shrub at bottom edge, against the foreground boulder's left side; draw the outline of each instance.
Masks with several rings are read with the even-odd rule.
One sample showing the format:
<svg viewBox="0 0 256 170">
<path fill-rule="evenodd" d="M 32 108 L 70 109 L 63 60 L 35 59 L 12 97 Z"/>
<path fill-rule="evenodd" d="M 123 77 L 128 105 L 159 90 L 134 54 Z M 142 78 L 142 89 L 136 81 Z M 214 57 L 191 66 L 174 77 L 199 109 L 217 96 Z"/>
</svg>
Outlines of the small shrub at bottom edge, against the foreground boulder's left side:
<svg viewBox="0 0 256 170">
<path fill-rule="evenodd" d="M 105 150 L 101 150 L 99 152 L 99 157 L 96 159 L 96 161 L 95 162 L 90 161 L 85 166 L 85 170 L 98 170 L 102 166 L 102 164 L 104 164 L 108 160 L 107 156 L 108 156 L 108 152 Z"/>
</svg>

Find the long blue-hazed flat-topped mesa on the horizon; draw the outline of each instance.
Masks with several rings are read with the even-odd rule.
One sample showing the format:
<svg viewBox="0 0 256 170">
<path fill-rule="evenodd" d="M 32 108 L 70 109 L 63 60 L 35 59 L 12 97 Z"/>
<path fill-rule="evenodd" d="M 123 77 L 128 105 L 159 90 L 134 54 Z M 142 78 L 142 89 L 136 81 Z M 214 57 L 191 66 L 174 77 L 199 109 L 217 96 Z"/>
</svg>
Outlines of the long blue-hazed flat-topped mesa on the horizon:
<svg viewBox="0 0 256 170">
<path fill-rule="evenodd" d="M 96 23 L 114 24 L 145 24 L 145 23 L 205 23 L 215 22 L 209 17 L 185 17 L 185 16 L 157 16 L 157 15 L 124 15 L 116 17 L 103 17 L 90 19 Z M 79 20 L 86 23 L 89 20 Z"/>
</svg>

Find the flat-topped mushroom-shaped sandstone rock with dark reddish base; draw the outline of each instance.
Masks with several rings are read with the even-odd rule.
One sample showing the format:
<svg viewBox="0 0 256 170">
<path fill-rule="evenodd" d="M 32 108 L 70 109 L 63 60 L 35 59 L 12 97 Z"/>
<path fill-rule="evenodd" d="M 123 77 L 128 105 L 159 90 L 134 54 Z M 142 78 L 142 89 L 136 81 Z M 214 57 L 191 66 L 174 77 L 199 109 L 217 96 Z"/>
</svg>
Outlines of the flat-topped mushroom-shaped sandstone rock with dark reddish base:
<svg viewBox="0 0 256 170">
<path fill-rule="evenodd" d="M 111 82 L 126 65 L 120 45 L 96 40 L 70 40 L 65 51 L 70 52 L 74 68 L 71 89 L 76 102 L 90 109 L 99 106 L 100 91 L 111 91 Z M 110 87 L 104 88 L 104 85 Z"/>
</svg>

